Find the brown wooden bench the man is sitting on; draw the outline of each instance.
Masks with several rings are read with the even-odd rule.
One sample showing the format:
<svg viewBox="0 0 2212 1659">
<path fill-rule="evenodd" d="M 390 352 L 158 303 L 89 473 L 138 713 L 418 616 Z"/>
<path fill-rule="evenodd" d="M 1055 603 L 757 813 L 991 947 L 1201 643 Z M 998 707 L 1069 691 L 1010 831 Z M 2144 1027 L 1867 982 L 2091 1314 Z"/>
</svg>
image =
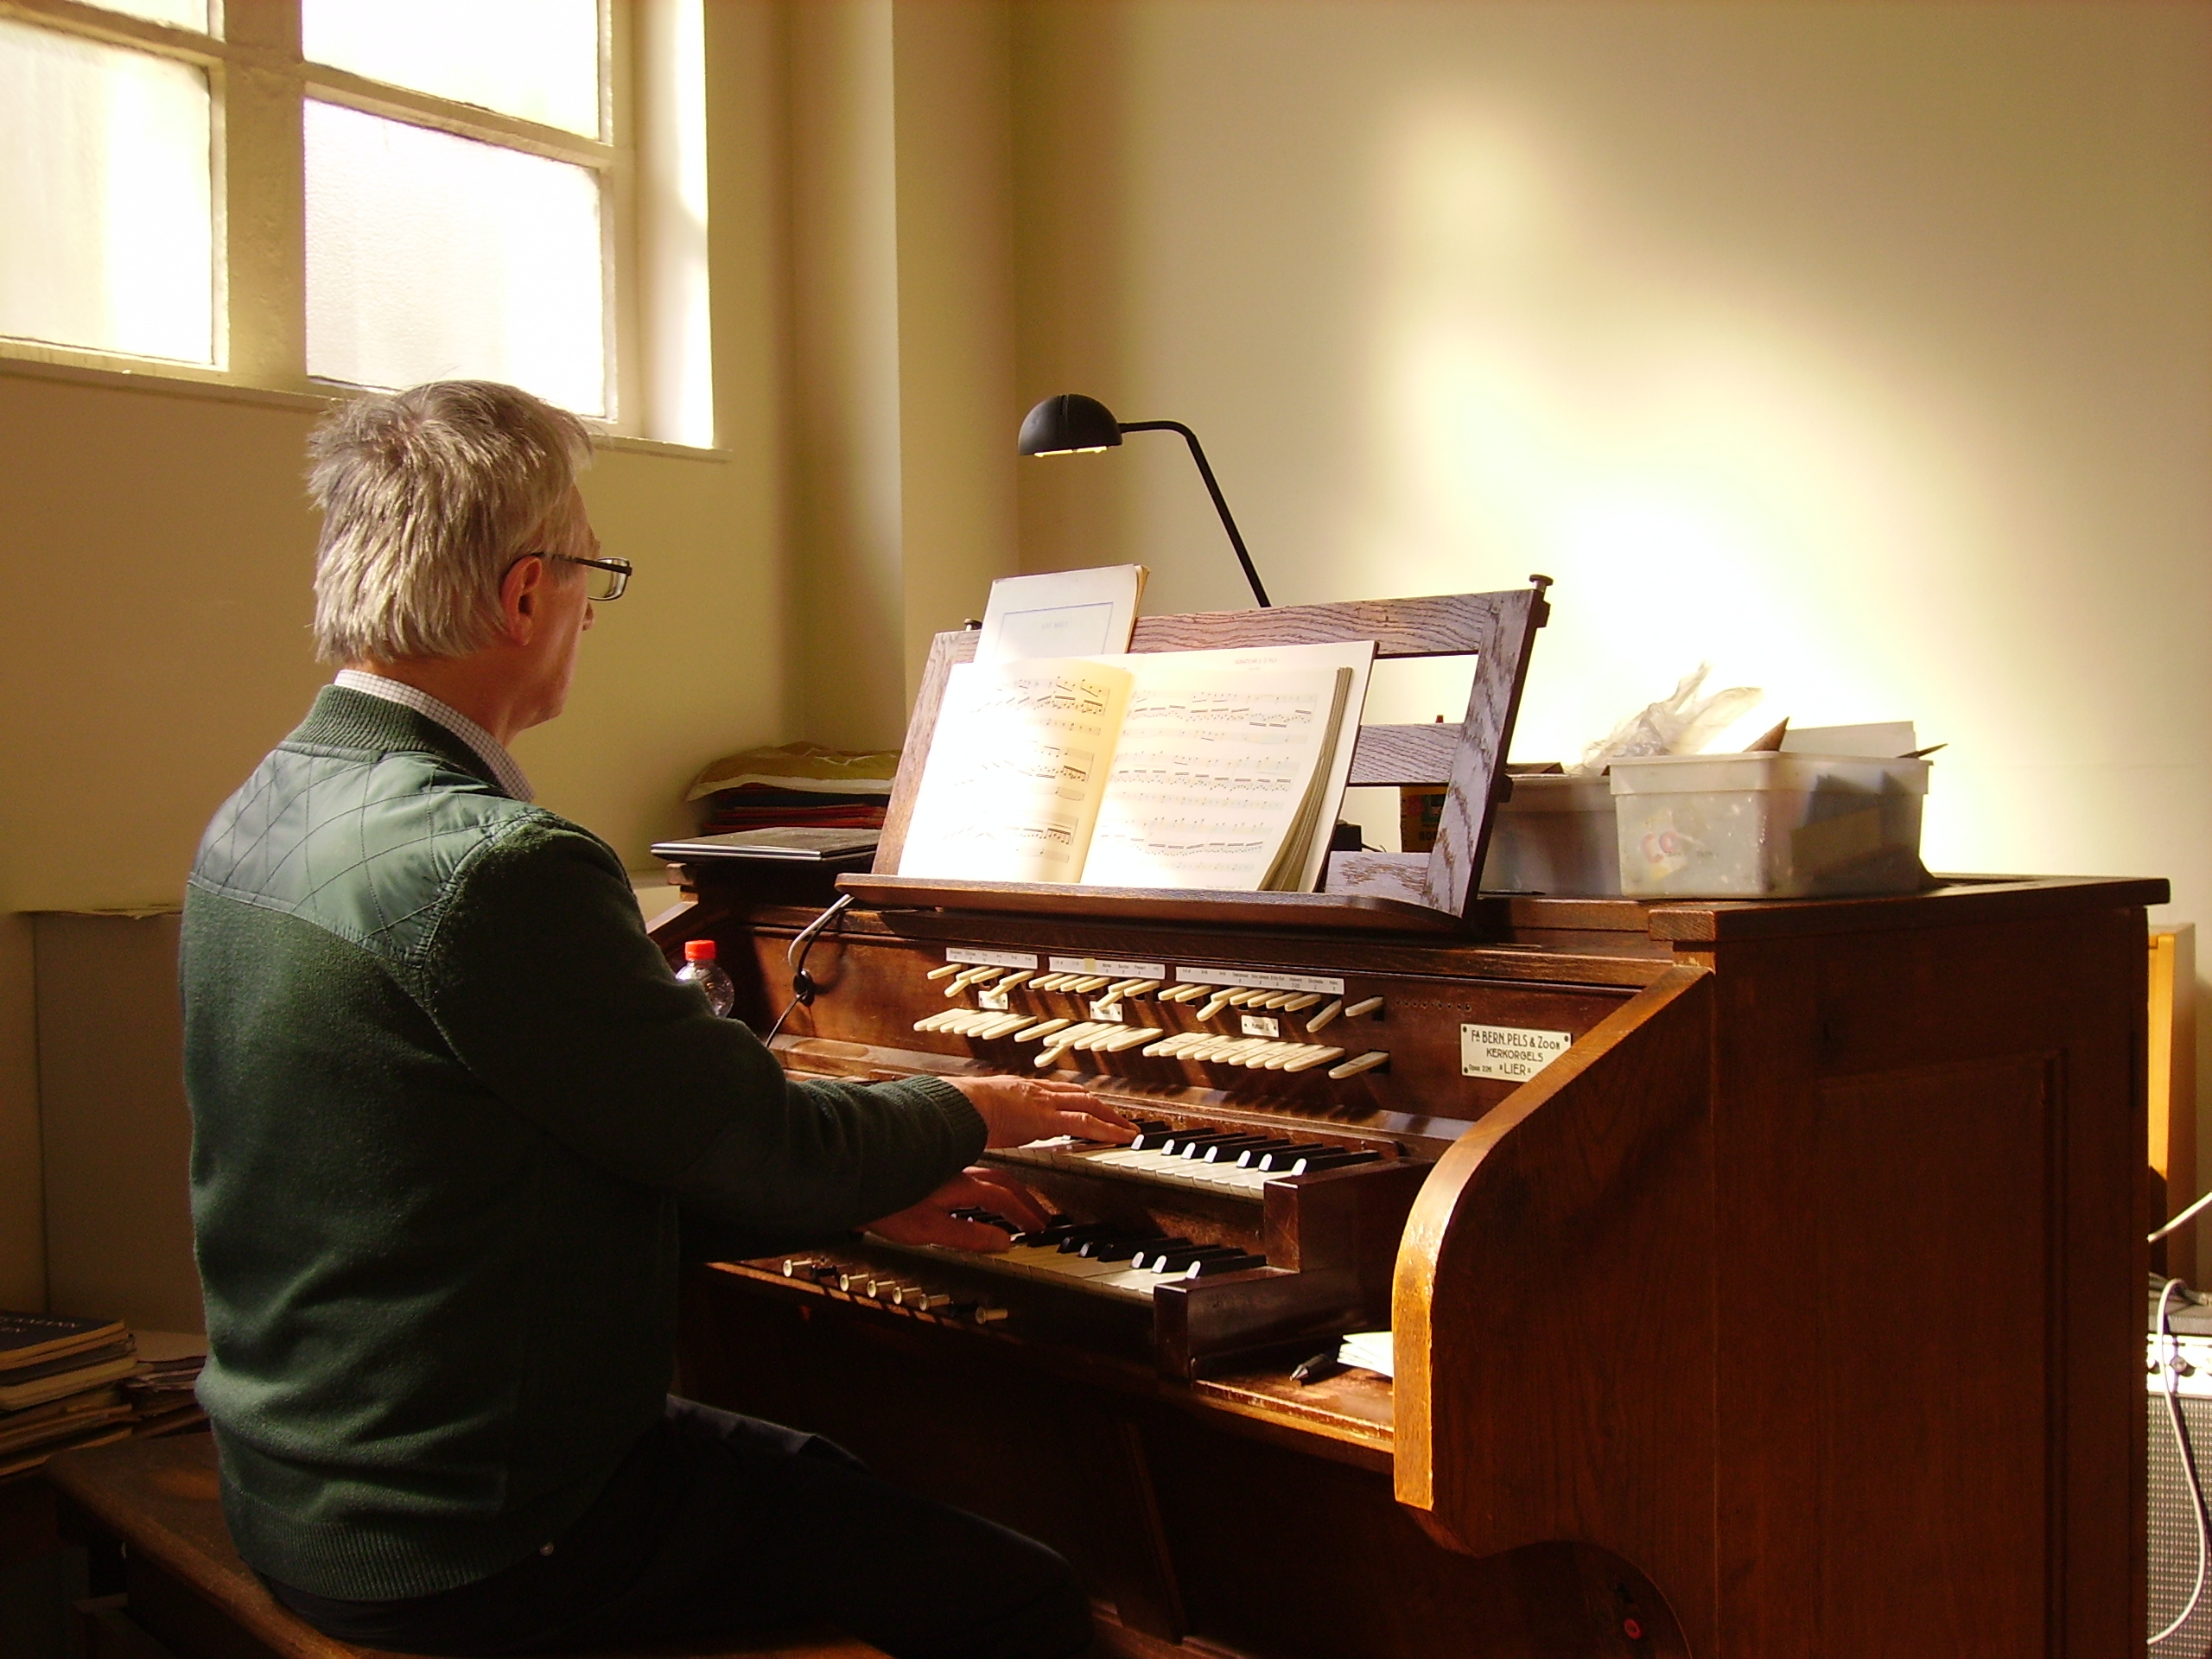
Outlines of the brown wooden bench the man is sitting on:
<svg viewBox="0 0 2212 1659">
<path fill-rule="evenodd" d="M 86 1659 L 133 1659 L 144 1630 L 175 1659 L 387 1659 L 332 1641 L 281 1608 L 239 1559 L 215 1486 L 215 1442 L 204 1436 L 122 1440 L 64 1451 L 46 1464 L 62 1531 L 113 1557 L 122 1546 L 128 1624 L 86 1621 Z M 117 1628 L 126 1635 L 117 1635 Z M 102 1635 L 106 1630 L 106 1635 Z M 865 1641 L 834 1635 L 748 1644 L 657 1644 L 571 1659 L 885 1659 Z"/>
</svg>

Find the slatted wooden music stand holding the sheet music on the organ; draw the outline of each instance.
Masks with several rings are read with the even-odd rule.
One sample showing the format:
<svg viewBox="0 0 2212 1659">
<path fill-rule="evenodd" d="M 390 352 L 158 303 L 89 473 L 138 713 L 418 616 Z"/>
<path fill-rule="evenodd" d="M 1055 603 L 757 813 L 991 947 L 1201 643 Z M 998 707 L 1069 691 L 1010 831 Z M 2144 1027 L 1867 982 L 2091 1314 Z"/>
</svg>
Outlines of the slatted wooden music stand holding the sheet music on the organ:
<svg viewBox="0 0 2212 1659">
<path fill-rule="evenodd" d="M 1429 854 L 1334 854 L 1321 894 L 1245 894 L 1161 887 L 1079 887 L 900 876 L 914 796 L 953 664 L 975 659 L 973 630 L 940 633 L 929 648 L 922 688 L 907 723 L 907 748 L 891 785 L 872 874 L 838 876 L 838 887 L 876 909 L 1022 911 L 1175 922 L 1243 922 L 1325 931 L 1464 933 L 1473 920 L 1475 878 L 1491 845 L 1491 821 L 1511 790 L 1504 776 L 1528 648 L 1551 617 L 1548 575 L 1504 593 L 1447 593 L 1422 599 L 1352 599 L 1274 611 L 1206 611 L 1139 617 L 1130 650 L 1223 650 L 1374 639 L 1378 661 L 1473 657 L 1475 681 L 1458 726 L 1360 726 L 1352 783 L 1447 785 L 1444 814 Z"/>
</svg>

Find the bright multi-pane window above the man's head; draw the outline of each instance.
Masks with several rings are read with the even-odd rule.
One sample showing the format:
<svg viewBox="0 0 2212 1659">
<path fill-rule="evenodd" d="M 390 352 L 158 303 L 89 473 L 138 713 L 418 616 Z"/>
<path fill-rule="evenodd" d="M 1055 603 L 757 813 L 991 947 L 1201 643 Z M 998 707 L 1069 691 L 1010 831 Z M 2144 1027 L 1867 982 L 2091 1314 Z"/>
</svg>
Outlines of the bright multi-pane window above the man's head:
<svg viewBox="0 0 2212 1659">
<path fill-rule="evenodd" d="M 511 380 L 637 431 L 630 24 L 622 0 L 0 0 L 0 349 Z"/>
</svg>

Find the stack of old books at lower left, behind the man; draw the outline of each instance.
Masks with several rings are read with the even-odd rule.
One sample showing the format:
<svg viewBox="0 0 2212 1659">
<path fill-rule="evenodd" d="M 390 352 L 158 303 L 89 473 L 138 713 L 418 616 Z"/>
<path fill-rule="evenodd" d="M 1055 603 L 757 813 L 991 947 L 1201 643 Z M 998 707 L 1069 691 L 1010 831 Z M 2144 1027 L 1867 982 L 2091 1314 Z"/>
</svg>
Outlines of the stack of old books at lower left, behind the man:
<svg viewBox="0 0 2212 1659">
<path fill-rule="evenodd" d="M 0 1480 L 55 1451 L 168 1433 L 201 1420 L 199 1336 L 122 1321 L 0 1314 Z"/>
</svg>

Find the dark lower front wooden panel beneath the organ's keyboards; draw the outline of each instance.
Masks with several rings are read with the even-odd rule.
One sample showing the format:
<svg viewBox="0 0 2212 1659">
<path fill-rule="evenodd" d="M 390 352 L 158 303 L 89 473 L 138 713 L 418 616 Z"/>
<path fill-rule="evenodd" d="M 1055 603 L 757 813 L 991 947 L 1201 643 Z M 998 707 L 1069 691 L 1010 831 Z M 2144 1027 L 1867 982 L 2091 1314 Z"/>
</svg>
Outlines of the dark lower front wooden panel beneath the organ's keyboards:
<svg viewBox="0 0 2212 1659">
<path fill-rule="evenodd" d="M 1214 1644 L 1265 1659 L 1681 1655 L 1663 1601 L 1597 1551 L 1467 1559 L 1391 1502 L 1371 1458 L 1188 1389 L 1133 1394 L 1079 1356 L 834 1305 L 799 1318 L 730 1274 L 688 1287 L 684 1352 L 695 1398 L 827 1433 L 1044 1540 L 1126 1621 L 1188 1630 L 1188 1659 Z M 1621 1637 L 1624 1606 L 1641 1641 Z"/>
</svg>

